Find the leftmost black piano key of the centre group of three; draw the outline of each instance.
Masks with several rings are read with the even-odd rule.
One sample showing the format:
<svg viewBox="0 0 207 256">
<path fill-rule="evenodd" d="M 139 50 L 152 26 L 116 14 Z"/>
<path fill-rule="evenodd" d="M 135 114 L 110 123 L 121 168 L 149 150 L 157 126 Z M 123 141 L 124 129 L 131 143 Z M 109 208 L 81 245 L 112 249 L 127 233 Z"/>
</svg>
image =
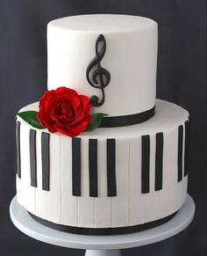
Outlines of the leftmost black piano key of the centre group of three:
<svg viewBox="0 0 207 256">
<path fill-rule="evenodd" d="M 72 138 L 72 193 L 81 196 L 81 138 Z"/>
</svg>

